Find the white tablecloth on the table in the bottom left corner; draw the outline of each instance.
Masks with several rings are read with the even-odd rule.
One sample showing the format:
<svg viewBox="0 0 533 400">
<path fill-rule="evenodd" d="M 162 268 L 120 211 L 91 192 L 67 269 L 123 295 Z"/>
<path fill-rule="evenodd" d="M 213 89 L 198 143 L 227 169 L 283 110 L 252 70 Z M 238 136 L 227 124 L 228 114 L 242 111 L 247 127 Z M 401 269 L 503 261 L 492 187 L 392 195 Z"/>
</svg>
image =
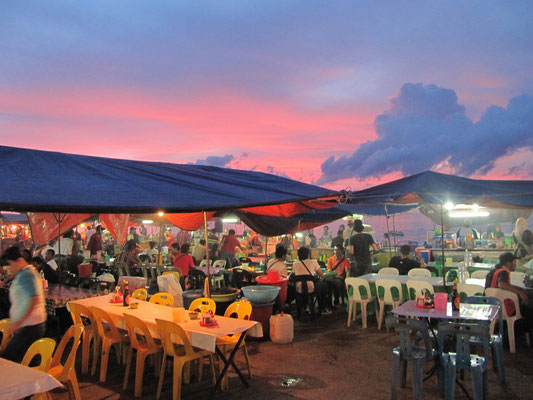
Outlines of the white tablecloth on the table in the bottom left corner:
<svg viewBox="0 0 533 400">
<path fill-rule="evenodd" d="M 14 400 L 62 386 L 47 373 L 0 358 L 0 399 Z"/>
</svg>

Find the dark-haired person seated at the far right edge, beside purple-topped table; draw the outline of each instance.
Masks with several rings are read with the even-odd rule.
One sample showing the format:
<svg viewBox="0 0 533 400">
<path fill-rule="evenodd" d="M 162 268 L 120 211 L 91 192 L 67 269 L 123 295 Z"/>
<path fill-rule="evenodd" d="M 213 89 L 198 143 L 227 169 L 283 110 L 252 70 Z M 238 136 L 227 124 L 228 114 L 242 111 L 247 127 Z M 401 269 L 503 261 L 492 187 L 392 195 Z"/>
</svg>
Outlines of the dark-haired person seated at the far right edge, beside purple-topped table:
<svg viewBox="0 0 533 400">
<path fill-rule="evenodd" d="M 485 289 L 499 288 L 516 293 L 520 302 L 520 312 L 522 317 L 525 320 L 527 329 L 531 330 L 533 329 L 533 310 L 527 306 L 529 300 L 527 292 L 521 287 L 511 284 L 511 272 L 516 269 L 517 257 L 513 255 L 513 253 L 507 252 L 500 254 L 499 260 L 500 262 L 487 274 Z M 514 315 L 516 313 L 512 301 L 506 301 L 504 306 L 508 315 Z"/>
</svg>

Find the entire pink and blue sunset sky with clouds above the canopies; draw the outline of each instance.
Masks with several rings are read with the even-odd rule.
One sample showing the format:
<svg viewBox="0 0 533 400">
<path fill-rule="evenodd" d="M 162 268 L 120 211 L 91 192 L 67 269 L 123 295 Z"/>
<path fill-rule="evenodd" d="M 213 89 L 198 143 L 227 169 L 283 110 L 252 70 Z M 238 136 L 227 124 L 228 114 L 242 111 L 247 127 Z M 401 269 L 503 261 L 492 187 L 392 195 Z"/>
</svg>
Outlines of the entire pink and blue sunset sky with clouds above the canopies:
<svg viewBox="0 0 533 400">
<path fill-rule="evenodd" d="M 533 175 L 533 3 L 3 2 L 1 144 L 364 188 Z"/>
</svg>

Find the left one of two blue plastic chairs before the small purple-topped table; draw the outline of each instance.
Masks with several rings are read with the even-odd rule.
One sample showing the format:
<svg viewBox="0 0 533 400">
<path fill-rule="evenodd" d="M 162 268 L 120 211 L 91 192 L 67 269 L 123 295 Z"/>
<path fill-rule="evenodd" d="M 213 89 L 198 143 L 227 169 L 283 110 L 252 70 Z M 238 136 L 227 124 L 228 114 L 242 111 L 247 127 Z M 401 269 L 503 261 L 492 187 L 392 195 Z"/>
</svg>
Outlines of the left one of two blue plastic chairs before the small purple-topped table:
<svg viewBox="0 0 533 400">
<path fill-rule="evenodd" d="M 400 385 L 405 387 L 408 361 L 411 361 L 412 368 L 413 399 L 422 399 L 424 364 L 436 357 L 426 322 L 390 315 L 385 323 L 387 329 L 395 328 L 400 332 L 400 346 L 392 350 L 391 399 L 396 399 L 398 373 L 401 376 Z M 423 347 L 416 345 L 420 340 Z"/>
</svg>

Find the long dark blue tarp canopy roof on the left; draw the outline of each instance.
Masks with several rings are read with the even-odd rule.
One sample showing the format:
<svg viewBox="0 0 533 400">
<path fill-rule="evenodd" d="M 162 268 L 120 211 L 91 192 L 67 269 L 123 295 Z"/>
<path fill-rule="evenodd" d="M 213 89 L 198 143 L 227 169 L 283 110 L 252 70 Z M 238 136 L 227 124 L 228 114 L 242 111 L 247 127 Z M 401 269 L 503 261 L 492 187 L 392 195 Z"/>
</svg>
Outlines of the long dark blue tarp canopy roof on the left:
<svg viewBox="0 0 533 400">
<path fill-rule="evenodd" d="M 0 146 L 0 209 L 68 213 L 231 210 L 338 195 L 261 172 Z"/>
</svg>

